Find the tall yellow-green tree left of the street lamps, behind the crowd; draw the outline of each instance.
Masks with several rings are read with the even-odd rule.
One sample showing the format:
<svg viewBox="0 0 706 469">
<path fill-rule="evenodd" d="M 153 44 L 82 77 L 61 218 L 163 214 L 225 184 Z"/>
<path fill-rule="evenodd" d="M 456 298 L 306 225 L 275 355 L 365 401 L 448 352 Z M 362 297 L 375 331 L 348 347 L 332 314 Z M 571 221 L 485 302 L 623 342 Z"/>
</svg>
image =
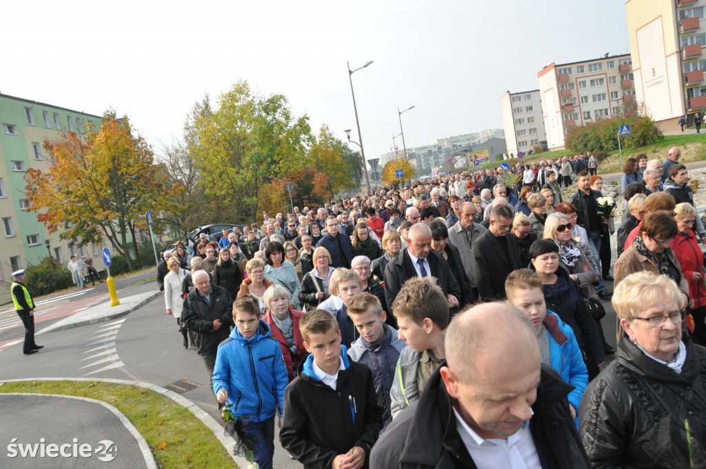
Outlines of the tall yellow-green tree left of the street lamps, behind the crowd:
<svg viewBox="0 0 706 469">
<path fill-rule="evenodd" d="M 255 221 L 263 188 L 304 167 L 314 142 L 309 118 L 295 117 L 284 95 L 253 93 L 246 81 L 221 93 L 194 127 L 205 194 L 233 222 Z"/>
</svg>

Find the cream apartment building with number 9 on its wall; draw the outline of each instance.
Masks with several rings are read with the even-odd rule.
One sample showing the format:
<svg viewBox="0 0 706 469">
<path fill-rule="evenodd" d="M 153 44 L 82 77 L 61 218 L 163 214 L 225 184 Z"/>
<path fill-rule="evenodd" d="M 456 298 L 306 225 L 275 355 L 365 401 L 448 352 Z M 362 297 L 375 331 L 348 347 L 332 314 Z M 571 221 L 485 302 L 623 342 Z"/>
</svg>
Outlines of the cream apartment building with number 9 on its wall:
<svg viewBox="0 0 706 469">
<path fill-rule="evenodd" d="M 628 0 L 635 92 L 662 130 L 706 107 L 706 0 Z"/>
</svg>

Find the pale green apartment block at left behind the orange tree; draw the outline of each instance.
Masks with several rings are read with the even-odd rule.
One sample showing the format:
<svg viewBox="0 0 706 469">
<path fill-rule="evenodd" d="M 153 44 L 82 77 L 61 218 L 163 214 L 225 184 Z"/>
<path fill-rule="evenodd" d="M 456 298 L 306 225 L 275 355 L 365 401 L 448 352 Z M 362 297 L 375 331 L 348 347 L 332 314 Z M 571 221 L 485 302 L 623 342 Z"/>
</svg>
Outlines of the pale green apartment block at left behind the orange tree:
<svg viewBox="0 0 706 469">
<path fill-rule="evenodd" d="M 68 240 L 59 239 L 60 232 L 49 235 L 37 222 L 37 214 L 27 210 L 24 177 L 30 167 L 49 170 L 52 162 L 42 148 L 45 140 L 59 140 L 60 131 L 83 133 L 89 123 L 98 129 L 101 117 L 0 94 L 0 285 L 12 281 L 13 271 L 39 263 L 47 255 L 65 262 L 78 252 L 68 246 Z M 96 256 L 100 270 L 100 247 L 83 247 L 82 254 L 86 252 Z"/>
</svg>

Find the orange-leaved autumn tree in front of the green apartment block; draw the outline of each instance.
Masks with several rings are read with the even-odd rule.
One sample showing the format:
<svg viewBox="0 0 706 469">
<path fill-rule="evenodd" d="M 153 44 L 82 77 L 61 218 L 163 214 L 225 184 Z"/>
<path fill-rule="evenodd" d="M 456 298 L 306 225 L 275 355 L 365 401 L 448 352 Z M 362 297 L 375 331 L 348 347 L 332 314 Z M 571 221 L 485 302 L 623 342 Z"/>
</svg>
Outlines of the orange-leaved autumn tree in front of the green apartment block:
<svg viewBox="0 0 706 469">
<path fill-rule="evenodd" d="M 61 239 L 78 246 L 102 244 L 107 237 L 132 270 L 131 244 L 142 266 L 136 230 L 147 227 L 144 213 L 172 210 L 181 188 L 167 184 L 150 146 L 133 135 L 127 117 L 106 112 L 100 131 L 89 126 L 85 137 L 62 133 L 59 141 L 44 141 L 44 149 L 52 157 L 49 172 L 30 168 L 25 174 L 29 210 L 37 220 L 50 233 L 63 229 Z M 158 223 L 153 228 L 162 230 Z"/>
</svg>

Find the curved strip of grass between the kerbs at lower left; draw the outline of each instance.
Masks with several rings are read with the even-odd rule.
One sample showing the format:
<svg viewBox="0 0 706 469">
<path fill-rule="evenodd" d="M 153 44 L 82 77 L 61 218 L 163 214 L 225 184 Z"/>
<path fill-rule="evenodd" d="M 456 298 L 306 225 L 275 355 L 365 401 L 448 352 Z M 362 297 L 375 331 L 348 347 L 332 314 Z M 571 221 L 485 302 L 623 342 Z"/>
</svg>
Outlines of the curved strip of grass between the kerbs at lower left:
<svg viewBox="0 0 706 469">
<path fill-rule="evenodd" d="M 102 400 L 123 412 L 147 440 L 160 468 L 236 468 L 201 420 L 161 394 L 96 381 L 19 381 L 0 393 L 47 393 Z"/>
</svg>

